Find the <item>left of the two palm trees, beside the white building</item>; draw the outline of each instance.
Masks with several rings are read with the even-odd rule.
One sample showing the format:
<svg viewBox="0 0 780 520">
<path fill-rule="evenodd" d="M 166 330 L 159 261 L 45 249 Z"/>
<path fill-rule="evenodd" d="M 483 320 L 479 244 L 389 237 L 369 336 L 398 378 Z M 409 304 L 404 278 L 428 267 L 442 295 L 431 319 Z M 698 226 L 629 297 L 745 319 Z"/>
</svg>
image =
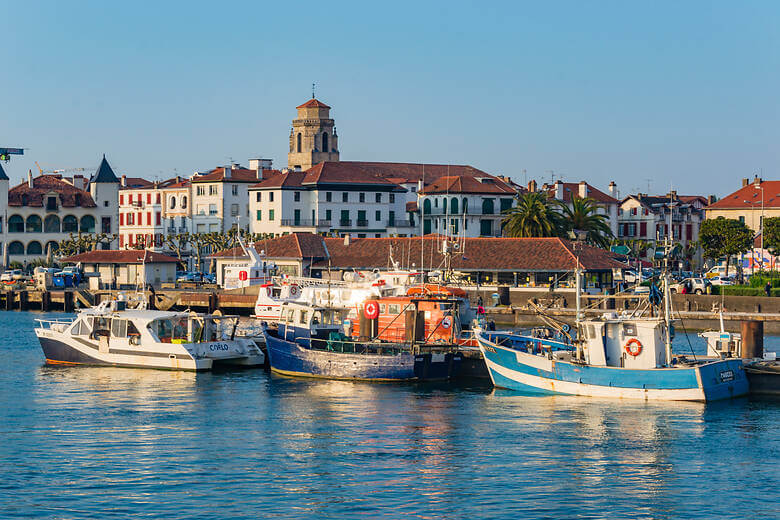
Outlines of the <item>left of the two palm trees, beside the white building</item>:
<svg viewBox="0 0 780 520">
<path fill-rule="evenodd" d="M 505 211 L 504 233 L 510 237 L 557 237 L 565 223 L 546 193 L 532 191 L 517 196 L 517 204 Z"/>
</svg>

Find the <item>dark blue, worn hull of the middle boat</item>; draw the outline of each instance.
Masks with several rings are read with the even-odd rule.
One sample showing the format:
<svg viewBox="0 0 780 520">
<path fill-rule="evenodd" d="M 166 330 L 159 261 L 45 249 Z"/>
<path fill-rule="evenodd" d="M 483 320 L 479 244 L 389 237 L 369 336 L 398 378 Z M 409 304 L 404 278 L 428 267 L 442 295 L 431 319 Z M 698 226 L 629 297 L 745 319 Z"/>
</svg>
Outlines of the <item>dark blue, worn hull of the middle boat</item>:
<svg viewBox="0 0 780 520">
<path fill-rule="evenodd" d="M 291 376 L 351 381 L 437 381 L 454 375 L 460 354 L 353 354 L 302 347 L 265 334 L 271 370 Z"/>
</svg>

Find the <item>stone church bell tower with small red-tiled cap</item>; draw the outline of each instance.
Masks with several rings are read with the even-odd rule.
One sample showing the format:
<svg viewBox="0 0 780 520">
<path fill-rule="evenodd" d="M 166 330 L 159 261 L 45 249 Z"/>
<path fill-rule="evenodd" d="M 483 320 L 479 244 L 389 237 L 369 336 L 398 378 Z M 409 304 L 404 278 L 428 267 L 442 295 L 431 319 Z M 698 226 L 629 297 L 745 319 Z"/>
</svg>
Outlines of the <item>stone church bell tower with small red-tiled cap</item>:
<svg viewBox="0 0 780 520">
<path fill-rule="evenodd" d="M 293 119 L 290 131 L 287 167 L 308 170 L 323 161 L 338 161 L 339 137 L 330 118 L 330 107 L 312 97 L 296 108 L 298 117 Z"/>
</svg>

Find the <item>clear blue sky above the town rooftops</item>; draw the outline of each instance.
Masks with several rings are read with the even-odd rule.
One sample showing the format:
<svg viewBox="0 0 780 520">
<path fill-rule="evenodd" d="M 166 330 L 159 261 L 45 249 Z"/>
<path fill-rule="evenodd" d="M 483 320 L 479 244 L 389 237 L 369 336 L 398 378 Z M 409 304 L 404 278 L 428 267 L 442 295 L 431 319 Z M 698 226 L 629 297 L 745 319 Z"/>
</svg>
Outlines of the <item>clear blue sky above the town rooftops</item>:
<svg viewBox="0 0 780 520">
<path fill-rule="evenodd" d="M 780 164 L 780 2 L 0 0 L 3 168 L 153 179 L 333 107 L 344 160 L 724 195 Z"/>
</svg>

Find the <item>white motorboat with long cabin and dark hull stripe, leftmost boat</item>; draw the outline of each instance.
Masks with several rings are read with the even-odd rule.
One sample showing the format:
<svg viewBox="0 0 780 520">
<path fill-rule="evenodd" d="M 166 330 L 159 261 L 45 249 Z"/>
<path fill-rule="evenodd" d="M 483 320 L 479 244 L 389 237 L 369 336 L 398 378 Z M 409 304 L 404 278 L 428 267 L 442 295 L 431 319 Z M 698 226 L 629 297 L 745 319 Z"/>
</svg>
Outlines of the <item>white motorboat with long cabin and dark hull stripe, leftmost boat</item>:
<svg viewBox="0 0 780 520">
<path fill-rule="evenodd" d="M 236 335 L 238 316 L 127 309 L 126 301 L 114 300 L 75 319 L 36 321 L 49 364 L 169 370 L 265 364 L 254 339 Z"/>
</svg>

